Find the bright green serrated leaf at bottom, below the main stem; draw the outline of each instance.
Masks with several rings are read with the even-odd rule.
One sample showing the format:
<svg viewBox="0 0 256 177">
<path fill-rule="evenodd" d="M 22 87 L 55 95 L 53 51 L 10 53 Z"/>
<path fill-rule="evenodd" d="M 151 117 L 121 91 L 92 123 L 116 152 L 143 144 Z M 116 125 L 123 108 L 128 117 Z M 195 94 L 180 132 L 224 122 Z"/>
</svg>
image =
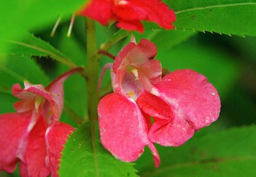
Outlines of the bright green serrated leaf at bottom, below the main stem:
<svg viewBox="0 0 256 177">
<path fill-rule="evenodd" d="M 95 149 L 92 146 L 90 123 L 84 123 L 70 135 L 62 151 L 60 176 L 137 177 L 131 163 L 115 159 L 101 145 L 98 128 L 96 130 Z M 96 151 L 96 157 L 93 151 Z"/>
</svg>

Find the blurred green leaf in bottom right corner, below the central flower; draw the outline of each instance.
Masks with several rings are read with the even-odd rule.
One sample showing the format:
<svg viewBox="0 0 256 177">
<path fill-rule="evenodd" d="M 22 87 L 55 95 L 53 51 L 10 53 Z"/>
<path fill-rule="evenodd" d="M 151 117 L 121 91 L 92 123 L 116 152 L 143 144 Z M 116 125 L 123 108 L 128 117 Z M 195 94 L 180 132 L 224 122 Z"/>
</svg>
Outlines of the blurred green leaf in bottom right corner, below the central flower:
<svg viewBox="0 0 256 177">
<path fill-rule="evenodd" d="M 147 150 L 137 161 L 141 177 L 255 177 L 256 126 L 232 128 L 190 139 L 180 147 L 157 146 L 160 168 L 148 160 Z"/>
</svg>

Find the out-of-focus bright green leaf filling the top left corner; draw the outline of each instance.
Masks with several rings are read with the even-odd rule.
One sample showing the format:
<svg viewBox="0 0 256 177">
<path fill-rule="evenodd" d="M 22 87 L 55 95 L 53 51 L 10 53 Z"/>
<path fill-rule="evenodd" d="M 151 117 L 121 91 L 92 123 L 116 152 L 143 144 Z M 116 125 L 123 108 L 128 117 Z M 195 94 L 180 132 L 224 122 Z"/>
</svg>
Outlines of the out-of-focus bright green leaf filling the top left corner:
<svg viewBox="0 0 256 177">
<path fill-rule="evenodd" d="M 52 26 L 59 15 L 71 15 L 87 0 L 1 0 L 1 39 L 14 39 L 24 29 Z M 3 40 L 0 40 L 0 47 Z"/>
</svg>

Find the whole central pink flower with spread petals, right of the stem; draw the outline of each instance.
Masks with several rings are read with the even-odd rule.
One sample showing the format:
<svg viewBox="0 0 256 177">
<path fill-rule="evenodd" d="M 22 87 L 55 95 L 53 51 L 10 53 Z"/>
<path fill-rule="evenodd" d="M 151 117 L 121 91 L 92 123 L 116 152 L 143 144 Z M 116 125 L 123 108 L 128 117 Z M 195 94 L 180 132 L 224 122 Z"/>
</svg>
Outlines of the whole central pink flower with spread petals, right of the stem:
<svg viewBox="0 0 256 177">
<path fill-rule="evenodd" d="M 156 54 L 156 46 L 145 39 L 119 52 L 111 72 L 114 93 L 100 100 L 98 113 L 102 144 L 116 158 L 137 160 L 149 146 L 158 167 L 153 143 L 181 146 L 218 119 L 221 104 L 216 89 L 195 71 L 161 78 Z"/>
</svg>

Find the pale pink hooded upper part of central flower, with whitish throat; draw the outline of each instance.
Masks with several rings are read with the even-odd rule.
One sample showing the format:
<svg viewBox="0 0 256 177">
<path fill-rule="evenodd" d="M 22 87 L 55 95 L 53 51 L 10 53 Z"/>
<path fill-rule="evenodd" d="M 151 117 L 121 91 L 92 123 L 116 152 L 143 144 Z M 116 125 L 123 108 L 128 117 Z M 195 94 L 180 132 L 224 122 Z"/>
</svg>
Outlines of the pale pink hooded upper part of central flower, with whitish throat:
<svg viewBox="0 0 256 177">
<path fill-rule="evenodd" d="M 138 45 L 128 43 L 113 63 L 114 92 L 130 95 L 136 100 L 143 90 L 150 91 L 152 84 L 160 82 L 161 64 L 153 60 L 156 54 L 156 46 L 146 39 L 140 40 Z"/>
</svg>

